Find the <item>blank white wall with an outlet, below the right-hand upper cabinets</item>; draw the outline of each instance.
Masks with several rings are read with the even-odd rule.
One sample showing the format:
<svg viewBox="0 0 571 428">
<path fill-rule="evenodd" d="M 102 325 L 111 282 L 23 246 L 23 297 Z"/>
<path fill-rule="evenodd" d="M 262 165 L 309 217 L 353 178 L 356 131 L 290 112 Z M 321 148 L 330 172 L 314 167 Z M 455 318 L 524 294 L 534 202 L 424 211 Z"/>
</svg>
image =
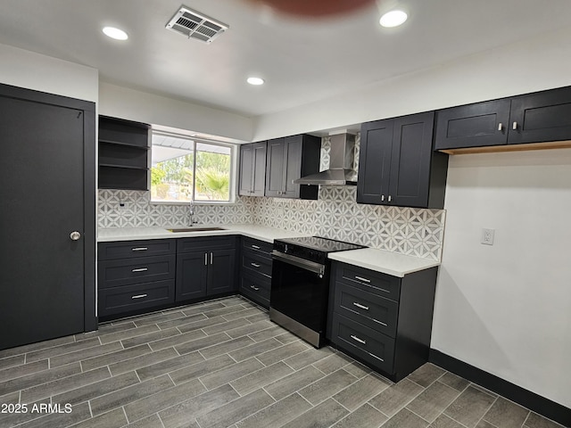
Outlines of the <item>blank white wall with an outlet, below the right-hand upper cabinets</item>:
<svg viewBox="0 0 571 428">
<path fill-rule="evenodd" d="M 571 407 L 571 149 L 451 156 L 444 208 L 432 347 Z"/>
</svg>

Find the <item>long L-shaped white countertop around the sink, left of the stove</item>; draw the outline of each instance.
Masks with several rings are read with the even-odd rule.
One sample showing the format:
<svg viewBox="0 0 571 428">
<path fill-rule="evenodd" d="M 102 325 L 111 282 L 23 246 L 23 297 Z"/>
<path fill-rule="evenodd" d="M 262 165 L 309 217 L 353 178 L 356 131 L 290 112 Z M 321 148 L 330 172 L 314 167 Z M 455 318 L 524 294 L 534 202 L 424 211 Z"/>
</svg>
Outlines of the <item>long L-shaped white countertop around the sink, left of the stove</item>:
<svg viewBox="0 0 571 428">
<path fill-rule="evenodd" d="M 259 239 L 266 243 L 273 243 L 274 239 L 307 236 L 288 230 L 261 225 L 194 225 L 195 228 L 222 227 L 224 230 L 195 231 L 195 232 L 169 232 L 165 227 L 109 227 L 97 230 L 97 242 L 107 243 L 112 241 L 135 241 L 144 239 L 187 238 L 192 236 L 217 236 L 217 235 L 244 235 Z M 177 226 L 172 228 L 183 228 Z"/>
</svg>

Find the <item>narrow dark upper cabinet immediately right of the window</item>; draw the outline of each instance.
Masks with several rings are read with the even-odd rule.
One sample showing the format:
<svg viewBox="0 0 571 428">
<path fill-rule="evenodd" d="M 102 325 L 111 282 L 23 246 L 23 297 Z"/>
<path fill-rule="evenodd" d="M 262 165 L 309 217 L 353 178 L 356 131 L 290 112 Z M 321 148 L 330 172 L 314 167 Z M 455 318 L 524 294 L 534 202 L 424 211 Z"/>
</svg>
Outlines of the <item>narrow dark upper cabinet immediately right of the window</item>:
<svg viewBox="0 0 571 428">
<path fill-rule="evenodd" d="M 241 196 L 264 196 L 266 189 L 266 152 L 268 144 L 243 144 L 240 146 Z"/>
</svg>

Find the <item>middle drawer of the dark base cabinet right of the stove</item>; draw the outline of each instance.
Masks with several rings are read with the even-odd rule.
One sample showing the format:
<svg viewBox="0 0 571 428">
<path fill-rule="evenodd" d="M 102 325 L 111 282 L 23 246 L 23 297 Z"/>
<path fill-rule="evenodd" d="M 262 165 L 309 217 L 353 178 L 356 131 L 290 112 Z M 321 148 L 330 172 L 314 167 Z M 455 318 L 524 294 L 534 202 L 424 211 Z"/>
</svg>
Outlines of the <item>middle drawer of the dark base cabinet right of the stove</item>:
<svg viewBox="0 0 571 428">
<path fill-rule="evenodd" d="M 335 283 L 335 312 L 395 337 L 398 303 L 349 284 Z"/>
</svg>

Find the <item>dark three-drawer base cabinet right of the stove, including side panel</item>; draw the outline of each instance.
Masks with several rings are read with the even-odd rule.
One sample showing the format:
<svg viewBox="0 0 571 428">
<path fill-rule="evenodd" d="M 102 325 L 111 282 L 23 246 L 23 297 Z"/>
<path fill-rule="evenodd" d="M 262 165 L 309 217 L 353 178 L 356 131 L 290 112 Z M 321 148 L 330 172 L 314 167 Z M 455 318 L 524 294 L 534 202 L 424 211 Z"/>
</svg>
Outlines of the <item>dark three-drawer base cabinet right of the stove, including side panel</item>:
<svg viewBox="0 0 571 428">
<path fill-rule="evenodd" d="M 327 338 L 399 382 L 428 361 L 437 269 L 398 278 L 334 262 Z"/>
</svg>

